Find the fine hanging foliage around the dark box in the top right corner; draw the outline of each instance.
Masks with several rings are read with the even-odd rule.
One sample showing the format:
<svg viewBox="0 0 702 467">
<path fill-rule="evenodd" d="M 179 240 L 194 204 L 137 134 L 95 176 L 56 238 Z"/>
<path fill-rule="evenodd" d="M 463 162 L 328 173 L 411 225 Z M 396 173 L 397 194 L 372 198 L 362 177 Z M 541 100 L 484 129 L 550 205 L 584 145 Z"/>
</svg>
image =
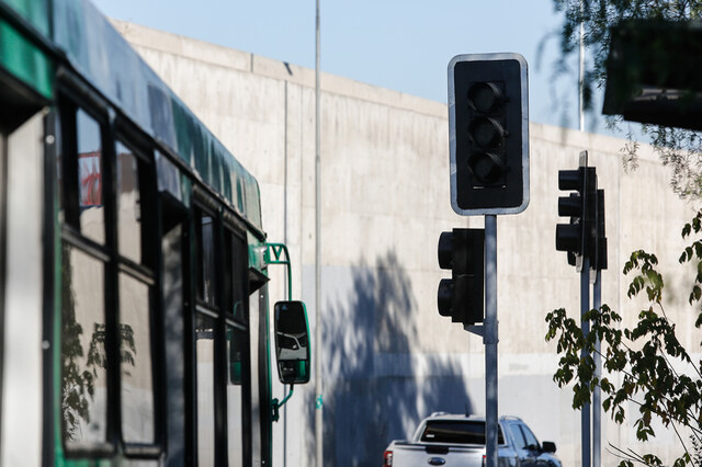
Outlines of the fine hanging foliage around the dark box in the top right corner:
<svg viewBox="0 0 702 467">
<path fill-rule="evenodd" d="M 584 101 L 592 110 L 595 87 L 603 88 L 607 79 L 605 59 L 609 53 L 609 27 L 623 20 L 660 19 L 670 21 L 700 20 L 702 0 L 554 0 L 557 11 L 565 14 L 561 32 L 562 57 L 556 70 L 566 69 L 566 59 L 578 52 L 580 23 L 584 24 L 585 46 L 592 52 L 592 64 L 586 72 Z M 621 118 L 609 118 L 615 127 Z M 670 167 L 670 185 L 683 198 L 702 197 L 702 140 L 691 130 L 643 125 L 655 151 L 664 164 Z M 637 144 L 629 134 L 622 148 L 625 168 L 636 168 Z"/>
</svg>

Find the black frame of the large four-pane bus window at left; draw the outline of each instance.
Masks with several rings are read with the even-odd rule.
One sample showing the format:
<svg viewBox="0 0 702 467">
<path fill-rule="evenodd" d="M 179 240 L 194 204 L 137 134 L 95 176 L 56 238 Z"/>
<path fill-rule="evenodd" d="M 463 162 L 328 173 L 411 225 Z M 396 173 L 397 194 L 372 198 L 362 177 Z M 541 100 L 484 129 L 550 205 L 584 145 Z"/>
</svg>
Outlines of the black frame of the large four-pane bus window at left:
<svg viewBox="0 0 702 467">
<path fill-rule="evenodd" d="M 155 147 L 149 138 L 126 118 L 115 116 L 115 112 L 100 96 L 91 92 L 77 79 L 64 77 L 57 89 L 56 136 L 57 148 L 54 160 L 56 172 L 60 157 L 60 174 L 57 173 L 57 191 L 60 194 L 58 235 L 60 244 L 78 249 L 103 263 L 104 267 L 104 318 L 106 355 L 106 436 L 104 443 L 71 447 L 59 434 L 67 458 L 105 458 L 122 452 L 127 458 L 158 459 L 165 449 L 165 387 L 162 384 L 162 333 L 158 324 L 160 295 L 158 261 L 160 260 L 157 236 L 157 181 L 154 159 Z M 77 115 L 82 111 L 100 126 L 101 182 L 104 206 L 104 243 L 97 242 L 80 231 L 80 190 L 78 170 Z M 118 250 L 117 232 L 117 155 L 120 141 L 132 150 L 138 163 L 139 200 L 141 216 L 141 261 L 136 263 L 122 257 Z M 60 176 L 60 178 L 59 178 Z M 64 261 L 64 260 L 61 260 Z M 122 366 L 120 330 L 120 276 L 137 280 L 148 287 L 151 384 L 154 396 L 154 443 L 127 443 L 122 426 Z M 63 287 L 63 285 L 61 285 Z M 61 292 L 58 292 L 60 297 Z M 58 298 L 60 300 L 60 298 Z M 58 304 L 58 306 L 63 306 Z M 60 332 L 60 330 L 58 331 Z M 61 378 L 60 369 L 58 378 Z M 60 413 L 60 408 L 59 408 Z"/>
</svg>

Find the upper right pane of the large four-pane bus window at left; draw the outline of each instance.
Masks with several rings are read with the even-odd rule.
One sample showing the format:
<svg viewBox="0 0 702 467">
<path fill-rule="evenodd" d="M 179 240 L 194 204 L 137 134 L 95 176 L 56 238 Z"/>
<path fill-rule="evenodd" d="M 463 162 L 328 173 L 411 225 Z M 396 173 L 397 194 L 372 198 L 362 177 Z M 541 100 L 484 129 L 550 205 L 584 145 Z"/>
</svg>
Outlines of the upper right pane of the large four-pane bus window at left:
<svg viewBox="0 0 702 467">
<path fill-rule="evenodd" d="M 137 158 L 117 143 L 117 228 L 120 254 L 141 262 L 141 208 Z"/>
</svg>

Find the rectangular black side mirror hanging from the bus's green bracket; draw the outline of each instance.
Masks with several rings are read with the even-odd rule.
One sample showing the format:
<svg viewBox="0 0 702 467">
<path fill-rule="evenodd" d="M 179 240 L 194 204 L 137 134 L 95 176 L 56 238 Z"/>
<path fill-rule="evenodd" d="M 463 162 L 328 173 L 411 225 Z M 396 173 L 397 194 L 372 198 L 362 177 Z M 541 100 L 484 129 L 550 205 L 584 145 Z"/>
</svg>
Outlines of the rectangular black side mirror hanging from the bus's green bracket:
<svg viewBox="0 0 702 467">
<path fill-rule="evenodd" d="M 273 308 L 278 377 L 284 385 L 309 381 L 309 326 L 302 301 L 278 301 Z"/>
</svg>

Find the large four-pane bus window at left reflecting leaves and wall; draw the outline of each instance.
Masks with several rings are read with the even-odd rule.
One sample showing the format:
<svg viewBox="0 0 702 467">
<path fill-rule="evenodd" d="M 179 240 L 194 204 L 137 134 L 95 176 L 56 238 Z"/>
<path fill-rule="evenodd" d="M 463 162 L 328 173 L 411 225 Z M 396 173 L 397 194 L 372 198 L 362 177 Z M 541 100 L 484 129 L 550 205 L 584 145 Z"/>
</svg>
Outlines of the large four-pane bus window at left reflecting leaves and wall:
<svg viewBox="0 0 702 467">
<path fill-rule="evenodd" d="M 155 206 L 154 162 L 92 110 L 59 109 L 61 437 L 71 456 L 109 455 L 121 440 L 135 459 L 155 458 L 157 229 L 141 217 Z"/>
</svg>

